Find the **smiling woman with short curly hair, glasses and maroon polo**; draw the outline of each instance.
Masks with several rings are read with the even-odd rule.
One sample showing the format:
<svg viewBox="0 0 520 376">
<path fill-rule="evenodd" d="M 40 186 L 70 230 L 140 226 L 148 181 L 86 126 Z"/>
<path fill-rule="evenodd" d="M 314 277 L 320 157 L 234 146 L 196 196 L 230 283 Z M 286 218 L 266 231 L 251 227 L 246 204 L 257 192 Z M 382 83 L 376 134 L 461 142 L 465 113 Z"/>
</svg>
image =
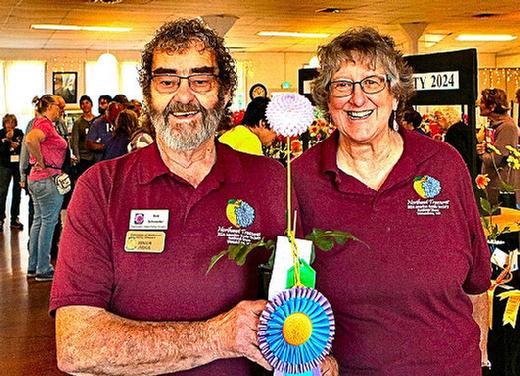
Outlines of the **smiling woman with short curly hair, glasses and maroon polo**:
<svg viewBox="0 0 520 376">
<path fill-rule="evenodd" d="M 348 230 L 369 247 L 336 246 L 314 264 L 334 307 L 340 374 L 476 375 L 470 305 L 485 338 L 490 266 L 465 164 L 395 126 L 413 86 L 391 38 L 348 30 L 318 56 L 313 97 L 337 131 L 294 163 L 303 232 Z"/>
</svg>

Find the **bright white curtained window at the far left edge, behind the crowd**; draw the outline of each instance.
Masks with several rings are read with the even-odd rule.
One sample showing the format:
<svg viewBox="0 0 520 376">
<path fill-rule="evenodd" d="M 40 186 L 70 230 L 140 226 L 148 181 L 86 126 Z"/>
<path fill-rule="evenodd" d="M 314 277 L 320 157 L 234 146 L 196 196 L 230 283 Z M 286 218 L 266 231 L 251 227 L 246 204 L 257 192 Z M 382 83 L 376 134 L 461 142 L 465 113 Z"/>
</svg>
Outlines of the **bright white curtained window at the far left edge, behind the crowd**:
<svg viewBox="0 0 520 376">
<path fill-rule="evenodd" d="M 18 127 L 25 131 L 27 123 L 34 117 L 31 103 L 35 96 L 45 93 L 44 61 L 6 61 L 3 64 L 4 82 L 0 81 L 0 89 L 5 102 L 3 113 L 16 115 Z M 2 76 L 2 75 L 0 75 Z"/>
</svg>

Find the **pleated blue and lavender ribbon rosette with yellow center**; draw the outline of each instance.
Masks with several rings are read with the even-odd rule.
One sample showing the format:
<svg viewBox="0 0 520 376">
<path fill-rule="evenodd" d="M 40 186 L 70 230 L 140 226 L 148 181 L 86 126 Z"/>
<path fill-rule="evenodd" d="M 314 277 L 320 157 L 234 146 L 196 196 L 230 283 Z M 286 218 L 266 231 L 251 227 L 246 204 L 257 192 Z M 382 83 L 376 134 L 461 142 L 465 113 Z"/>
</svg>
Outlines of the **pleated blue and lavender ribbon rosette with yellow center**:
<svg viewBox="0 0 520 376">
<path fill-rule="evenodd" d="M 321 375 L 335 332 L 329 301 L 304 286 L 284 290 L 260 315 L 258 342 L 277 375 Z"/>
</svg>

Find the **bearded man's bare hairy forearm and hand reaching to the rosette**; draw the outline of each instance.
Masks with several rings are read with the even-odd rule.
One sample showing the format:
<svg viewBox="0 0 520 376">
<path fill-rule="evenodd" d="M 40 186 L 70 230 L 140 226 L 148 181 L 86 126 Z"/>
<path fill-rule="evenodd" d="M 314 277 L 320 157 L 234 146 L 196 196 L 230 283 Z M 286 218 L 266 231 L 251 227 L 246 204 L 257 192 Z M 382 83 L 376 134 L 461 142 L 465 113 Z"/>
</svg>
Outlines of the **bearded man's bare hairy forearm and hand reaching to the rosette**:
<svg viewBox="0 0 520 376">
<path fill-rule="evenodd" d="M 80 375 L 154 375 L 244 356 L 269 369 L 256 334 L 264 307 L 265 301 L 243 301 L 201 322 L 136 321 L 101 308 L 59 308 L 58 368 Z"/>
</svg>

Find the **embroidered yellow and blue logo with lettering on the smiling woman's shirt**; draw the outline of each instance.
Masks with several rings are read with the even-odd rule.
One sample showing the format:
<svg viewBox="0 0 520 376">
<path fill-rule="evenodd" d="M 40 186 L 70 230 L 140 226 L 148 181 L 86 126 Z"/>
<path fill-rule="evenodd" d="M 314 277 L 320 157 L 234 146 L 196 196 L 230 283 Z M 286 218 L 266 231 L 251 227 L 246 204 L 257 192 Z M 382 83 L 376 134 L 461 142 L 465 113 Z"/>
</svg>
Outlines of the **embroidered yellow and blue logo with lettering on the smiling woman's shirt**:
<svg viewBox="0 0 520 376">
<path fill-rule="evenodd" d="M 441 215 L 450 208 L 450 200 L 434 200 L 442 191 L 441 182 L 432 176 L 422 175 L 413 179 L 413 189 L 423 200 L 408 200 L 406 208 L 417 215 Z"/>
</svg>

